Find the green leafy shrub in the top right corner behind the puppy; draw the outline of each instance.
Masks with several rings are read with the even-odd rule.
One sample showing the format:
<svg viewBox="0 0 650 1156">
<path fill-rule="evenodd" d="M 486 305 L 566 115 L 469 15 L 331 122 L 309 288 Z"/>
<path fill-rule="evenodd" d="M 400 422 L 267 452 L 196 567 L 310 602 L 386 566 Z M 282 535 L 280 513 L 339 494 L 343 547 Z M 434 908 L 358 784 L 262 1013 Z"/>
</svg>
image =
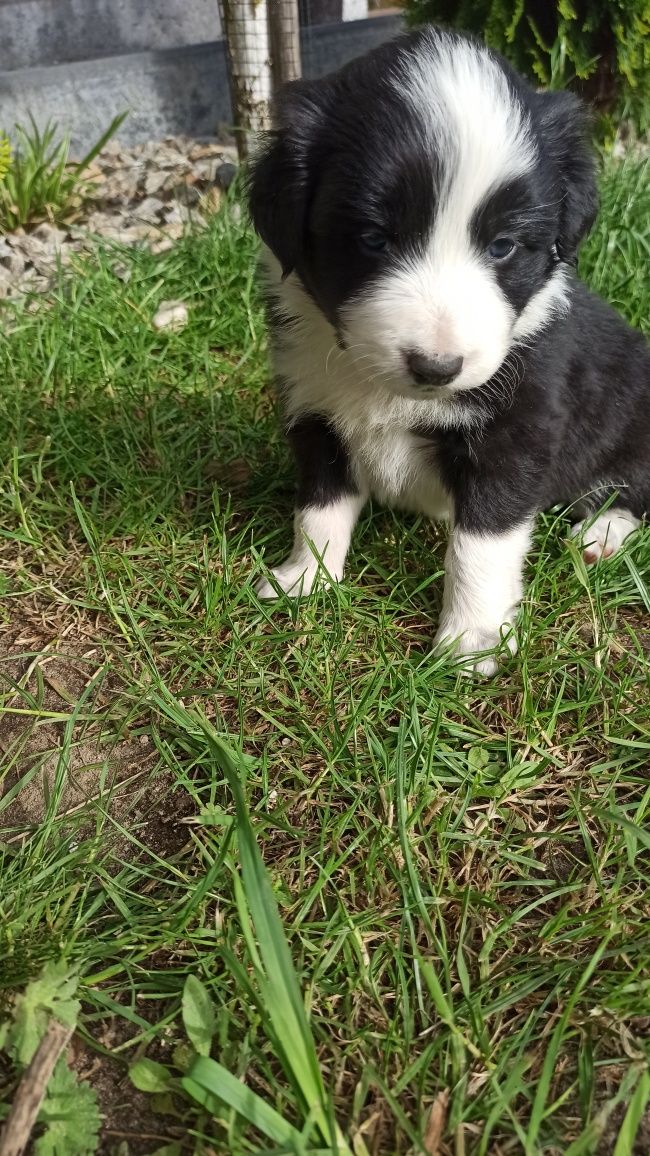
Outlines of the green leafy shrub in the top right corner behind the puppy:
<svg viewBox="0 0 650 1156">
<path fill-rule="evenodd" d="M 649 0 L 406 0 L 406 10 L 412 24 L 477 32 L 539 84 L 571 86 L 650 127 Z"/>
</svg>

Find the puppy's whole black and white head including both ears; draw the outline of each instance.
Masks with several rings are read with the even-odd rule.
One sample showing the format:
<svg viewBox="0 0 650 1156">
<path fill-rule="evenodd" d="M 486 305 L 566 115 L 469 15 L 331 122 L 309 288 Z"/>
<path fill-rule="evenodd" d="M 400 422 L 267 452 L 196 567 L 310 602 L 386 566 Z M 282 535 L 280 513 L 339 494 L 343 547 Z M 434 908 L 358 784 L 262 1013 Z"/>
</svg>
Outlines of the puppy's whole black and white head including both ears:
<svg viewBox="0 0 650 1156">
<path fill-rule="evenodd" d="M 464 37 L 288 86 L 250 203 L 283 275 L 398 392 L 485 384 L 566 307 L 596 213 L 585 116 Z"/>
</svg>

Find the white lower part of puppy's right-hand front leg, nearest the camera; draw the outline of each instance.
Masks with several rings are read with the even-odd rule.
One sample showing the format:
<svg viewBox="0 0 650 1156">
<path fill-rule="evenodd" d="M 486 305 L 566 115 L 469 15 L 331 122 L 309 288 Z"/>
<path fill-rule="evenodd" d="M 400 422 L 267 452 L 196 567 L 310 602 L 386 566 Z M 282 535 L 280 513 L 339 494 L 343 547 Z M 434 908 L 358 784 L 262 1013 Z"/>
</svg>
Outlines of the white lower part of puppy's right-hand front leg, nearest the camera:
<svg viewBox="0 0 650 1156">
<path fill-rule="evenodd" d="M 503 533 L 480 533 L 456 525 L 445 556 L 444 595 L 434 646 L 455 644 L 456 652 L 480 654 L 500 645 L 514 625 L 523 595 L 524 557 L 531 543 L 533 519 L 526 518 Z M 507 645 L 517 642 L 510 629 Z M 493 655 L 477 658 L 470 667 L 494 674 Z"/>
</svg>

